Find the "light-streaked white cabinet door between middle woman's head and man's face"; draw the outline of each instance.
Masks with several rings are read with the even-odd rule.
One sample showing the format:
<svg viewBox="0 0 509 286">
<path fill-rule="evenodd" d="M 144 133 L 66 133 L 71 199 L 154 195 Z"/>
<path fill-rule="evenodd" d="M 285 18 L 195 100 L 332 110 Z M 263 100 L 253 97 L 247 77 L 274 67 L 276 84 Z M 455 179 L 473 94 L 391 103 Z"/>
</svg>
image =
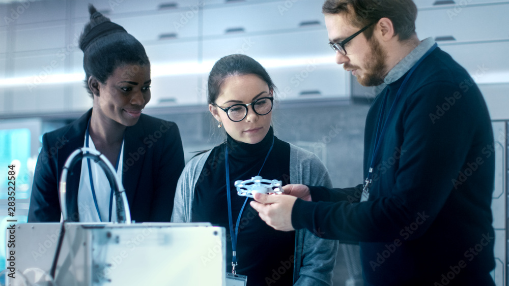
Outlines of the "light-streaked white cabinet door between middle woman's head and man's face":
<svg viewBox="0 0 509 286">
<path fill-rule="evenodd" d="M 258 60 L 272 77 L 283 99 L 317 96 L 345 97 L 346 76 L 334 63 L 324 28 L 302 28 L 289 33 L 238 35 L 204 41 L 204 61 L 242 53 Z M 317 91 L 317 92 L 315 92 Z"/>
</svg>

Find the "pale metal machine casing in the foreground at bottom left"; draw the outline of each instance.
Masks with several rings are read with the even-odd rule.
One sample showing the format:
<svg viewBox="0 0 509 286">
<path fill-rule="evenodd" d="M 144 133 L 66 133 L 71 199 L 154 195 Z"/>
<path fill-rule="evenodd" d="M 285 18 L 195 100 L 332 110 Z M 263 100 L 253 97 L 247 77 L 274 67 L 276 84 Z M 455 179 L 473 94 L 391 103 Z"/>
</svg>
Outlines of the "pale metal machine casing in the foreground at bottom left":
<svg viewBox="0 0 509 286">
<path fill-rule="evenodd" d="M 65 224 L 56 267 L 60 286 L 223 285 L 224 228 L 200 224 Z M 16 279 L 48 280 L 61 224 L 16 226 Z"/>
</svg>

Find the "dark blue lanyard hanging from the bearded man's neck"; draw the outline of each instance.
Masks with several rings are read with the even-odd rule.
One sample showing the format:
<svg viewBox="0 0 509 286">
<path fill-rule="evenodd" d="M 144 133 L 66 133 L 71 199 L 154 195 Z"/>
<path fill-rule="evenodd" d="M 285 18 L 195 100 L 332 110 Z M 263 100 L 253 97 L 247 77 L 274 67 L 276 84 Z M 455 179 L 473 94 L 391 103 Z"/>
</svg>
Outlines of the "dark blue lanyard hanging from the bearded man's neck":
<svg viewBox="0 0 509 286">
<path fill-rule="evenodd" d="M 392 106 L 390 107 L 390 110 L 389 110 L 389 114 L 387 115 L 387 118 L 385 118 L 385 121 L 383 123 L 383 126 L 382 126 L 382 119 L 383 119 L 383 114 L 385 112 L 385 103 L 386 103 L 386 99 L 384 100 L 384 102 L 382 103 L 382 108 L 381 108 L 381 111 L 380 111 L 380 115 L 378 117 L 378 126 L 377 126 L 377 134 L 376 134 L 376 137 L 375 137 L 375 149 L 373 150 L 373 156 L 371 157 L 371 164 L 370 164 L 370 169 L 367 173 L 367 177 L 366 177 L 366 180 L 364 181 L 364 186 L 362 187 L 362 196 L 360 198 L 360 201 L 361 202 L 365 202 L 367 201 L 367 199 L 369 198 L 370 196 L 370 185 L 371 183 L 373 182 L 372 181 L 372 176 L 373 176 L 373 169 L 375 168 L 375 160 L 376 160 L 376 157 L 378 156 L 378 152 L 380 151 L 380 146 L 381 146 L 381 142 L 383 140 L 383 137 L 385 135 L 385 128 L 387 127 L 387 122 L 389 121 L 389 119 L 392 117 L 393 113 L 394 113 L 394 107 L 396 106 L 396 104 L 398 103 L 398 100 L 400 99 L 400 95 L 401 95 L 401 92 L 403 90 L 403 87 L 405 87 L 408 79 L 410 78 L 410 76 L 412 75 L 412 73 L 415 71 L 415 69 L 417 68 L 417 66 L 419 66 L 419 63 L 425 59 L 429 54 L 431 54 L 431 52 L 433 52 L 435 50 L 435 48 L 437 47 L 437 43 L 435 43 L 414 65 L 413 67 L 410 69 L 410 71 L 408 72 L 407 76 L 405 77 L 405 79 L 403 80 L 403 83 L 401 84 L 400 88 L 398 89 L 398 92 L 396 93 L 396 97 L 394 98 L 394 102 L 392 102 Z M 387 94 L 387 90 L 385 91 L 385 94 Z"/>
</svg>

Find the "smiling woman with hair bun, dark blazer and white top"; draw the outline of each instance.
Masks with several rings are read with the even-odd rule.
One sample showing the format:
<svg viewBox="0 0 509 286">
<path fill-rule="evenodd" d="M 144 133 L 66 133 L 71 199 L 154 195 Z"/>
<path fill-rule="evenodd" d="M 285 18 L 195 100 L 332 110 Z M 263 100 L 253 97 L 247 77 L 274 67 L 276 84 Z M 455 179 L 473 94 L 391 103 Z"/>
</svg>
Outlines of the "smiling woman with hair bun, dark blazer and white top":
<svg viewBox="0 0 509 286">
<path fill-rule="evenodd" d="M 29 222 L 60 221 L 58 183 L 69 155 L 80 147 L 106 156 L 121 178 L 131 219 L 169 221 L 184 168 L 177 125 L 142 114 L 150 101 L 150 61 L 143 45 L 93 7 L 79 39 L 85 86 L 93 107 L 76 121 L 44 134 L 37 160 Z M 116 221 L 108 180 L 89 158 L 67 181 L 71 221 Z M 112 211 L 113 210 L 113 211 Z"/>
</svg>

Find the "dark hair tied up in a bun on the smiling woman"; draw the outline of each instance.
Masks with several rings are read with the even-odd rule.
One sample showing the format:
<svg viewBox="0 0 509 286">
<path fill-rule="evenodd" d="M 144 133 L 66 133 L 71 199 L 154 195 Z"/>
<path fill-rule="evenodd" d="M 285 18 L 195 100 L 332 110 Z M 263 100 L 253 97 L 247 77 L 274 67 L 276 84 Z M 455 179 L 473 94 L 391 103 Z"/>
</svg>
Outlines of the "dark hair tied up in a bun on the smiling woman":
<svg viewBox="0 0 509 286">
<path fill-rule="evenodd" d="M 83 51 L 85 86 L 92 96 L 88 79 L 94 76 L 105 83 L 115 69 L 124 65 L 150 65 L 145 48 L 120 25 L 97 12 L 89 5 L 90 21 L 79 37 Z"/>
</svg>

